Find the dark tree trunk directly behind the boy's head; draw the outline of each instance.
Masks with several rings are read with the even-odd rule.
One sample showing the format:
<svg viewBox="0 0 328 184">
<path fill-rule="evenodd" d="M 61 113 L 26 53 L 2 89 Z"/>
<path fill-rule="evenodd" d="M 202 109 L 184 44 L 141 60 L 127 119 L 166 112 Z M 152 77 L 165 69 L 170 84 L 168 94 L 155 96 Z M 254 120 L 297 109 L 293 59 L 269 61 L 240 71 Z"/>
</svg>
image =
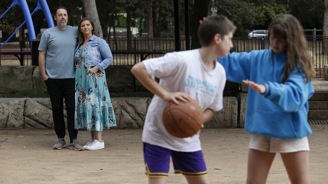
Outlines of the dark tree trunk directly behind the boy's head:
<svg viewBox="0 0 328 184">
<path fill-rule="evenodd" d="M 191 26 L 191 35 L 192 35 L 192 49 L 200 48 L 201 44 L 199 43 L 197 30 L 199 27 L 199 21 L 204 17 L 207 17 L 208 6 L 210 0 L 195 0 L 194 1 L 194 14 L 192 16 L 192 26 Z"/>
</svg>

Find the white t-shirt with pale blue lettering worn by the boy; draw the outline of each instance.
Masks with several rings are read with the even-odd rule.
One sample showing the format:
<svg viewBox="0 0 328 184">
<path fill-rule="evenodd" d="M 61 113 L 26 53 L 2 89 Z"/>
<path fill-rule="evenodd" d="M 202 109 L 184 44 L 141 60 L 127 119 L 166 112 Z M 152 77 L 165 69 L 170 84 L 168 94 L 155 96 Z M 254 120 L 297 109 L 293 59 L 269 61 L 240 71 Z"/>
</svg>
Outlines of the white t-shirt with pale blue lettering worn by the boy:
<svg viewBox="0 0 328 184">
<path fill-rule="evenodd" d="M 225 71 L 215 62 L 215 68 L 208 70 L 199 49 L 171 52 L 163 57 L 143 62 L 152 78 L 160 79 L 159 84 L 169 92 L 184 92 L 195 100 L 203 111 L 223 108 L 222 98 L 225 85 Z M 188 138 L 171 136 L 164 128 L 162 113 L 166 101 L 154 95 L 146 114 L 143 142 L 175 151 L 194 152 L 202 150 L 199 134 Z"/>
</svg>

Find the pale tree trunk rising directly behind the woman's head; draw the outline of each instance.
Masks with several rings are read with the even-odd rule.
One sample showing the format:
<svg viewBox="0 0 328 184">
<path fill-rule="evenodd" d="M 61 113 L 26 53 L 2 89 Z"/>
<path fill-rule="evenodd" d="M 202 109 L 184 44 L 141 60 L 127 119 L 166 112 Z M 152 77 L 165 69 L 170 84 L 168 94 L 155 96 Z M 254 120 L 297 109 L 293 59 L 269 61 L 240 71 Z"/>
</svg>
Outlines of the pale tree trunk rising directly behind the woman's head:
<svg viewBox="0 0 328 184">
<path fill-rule="evenodd" d="M 95 35 L 99 37 L 103 37 L 102 26 L 99 21 L 96 0 L 81 0 L 83 4 L 83 11 L 85 17 L 92 19 L 93 23 L 95 23 Z"/>
</svg>

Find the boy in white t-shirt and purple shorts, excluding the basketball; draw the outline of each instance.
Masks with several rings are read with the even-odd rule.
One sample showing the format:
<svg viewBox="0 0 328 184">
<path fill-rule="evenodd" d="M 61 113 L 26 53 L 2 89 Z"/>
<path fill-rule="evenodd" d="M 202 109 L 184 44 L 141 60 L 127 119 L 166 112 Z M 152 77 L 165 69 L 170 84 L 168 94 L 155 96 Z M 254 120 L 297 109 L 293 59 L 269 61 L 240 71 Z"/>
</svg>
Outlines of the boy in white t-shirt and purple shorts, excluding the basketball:
<svg viewBox="0 0 328 184">
<path fill-rule="evenodd" d="M 188 183 L 209 183 L 199 134 L 189 138 L 171 136 L 164 128 L 162 113 L 168 101 L 191 99 L 204 111 L 203 122 L 223 108 L 225 71 L 216 57 L 225 57 L 232 48 L 236 27 L 224 16 L 209 16 L 198 29 L 200 49 L 167 53 L 145 60 L 132 74 L 154 93 L 144 131 L 144 159 L 149 183 L 166 183 L 172 157 L 174 173 L 182 173 Z M 160 79 L 157 83 L 154 77 Z M 182 103 L 182 102 L 180 102 Z"/>
</svg>

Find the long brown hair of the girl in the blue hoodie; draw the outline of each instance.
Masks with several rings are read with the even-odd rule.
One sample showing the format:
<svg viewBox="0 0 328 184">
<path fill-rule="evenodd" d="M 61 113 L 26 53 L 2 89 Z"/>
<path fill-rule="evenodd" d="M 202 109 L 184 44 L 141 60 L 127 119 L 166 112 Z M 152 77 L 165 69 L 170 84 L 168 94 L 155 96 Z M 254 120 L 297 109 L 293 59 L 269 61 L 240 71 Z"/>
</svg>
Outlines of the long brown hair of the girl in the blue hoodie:
<svg viewBox="0 0 328 184">
<path fill-rule="evenodd" d="M 283 14 L 272 20 L 268 30 L 268 39 L 270 34 L 273 34 L 274 37 L 287 41 L 287 58 L 282 83 L 287 81 L 294 67 L 300 74 L 303 70 L 306 82 L 311 81 L 315 77 L 315 71 L 300 22 L 292 15 Z"/>
</svg>

